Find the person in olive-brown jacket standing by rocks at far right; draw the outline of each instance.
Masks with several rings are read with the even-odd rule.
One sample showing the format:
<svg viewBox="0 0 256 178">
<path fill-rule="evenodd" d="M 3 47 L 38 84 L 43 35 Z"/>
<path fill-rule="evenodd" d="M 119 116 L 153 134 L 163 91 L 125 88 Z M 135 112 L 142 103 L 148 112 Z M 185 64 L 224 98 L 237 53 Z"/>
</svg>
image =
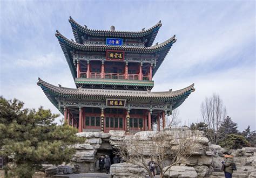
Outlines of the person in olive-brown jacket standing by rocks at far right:
<svg viewBox="0 0 256 178">
<path fill-rule="evenodd" d="M 230 152 L 225 152 L 223 154 L 224 154 L 225 160 L 221 162 L 223 163 L 222 170 L 224 171 L 226 178 L 231 178 L 233 174 L 232 165 L 234 164 L 234 158 Z"/>
</svg>

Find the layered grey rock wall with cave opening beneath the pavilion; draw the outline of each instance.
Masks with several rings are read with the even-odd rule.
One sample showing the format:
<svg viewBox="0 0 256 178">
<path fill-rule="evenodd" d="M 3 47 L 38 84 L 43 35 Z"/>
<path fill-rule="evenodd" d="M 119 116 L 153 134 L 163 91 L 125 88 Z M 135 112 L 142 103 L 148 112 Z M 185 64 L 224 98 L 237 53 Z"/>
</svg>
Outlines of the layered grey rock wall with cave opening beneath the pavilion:
<svg viewBox="0 0 256 178">
<path fill-rule="evenodd" d="M 178 130 L 165 130 L 169 134 L 166 139 L 172 140 L 178 137 Z M 145 149 L 145 156 L 150 156 L 152 152 L 150 149 L 151 136 L 156 132 L 142 131 L 136 133 L 134 136 L 139 136 L 142 141 L 142 148 Z M 185 129 L 184 133 L 188 137 L 197 137 L 198 145 L 192 151 L 192 155 L 185 161 L 180 161 L 177 165 L 173 166 L 166 172 L 166 177 L 223 177 L 224 173 L 221 172 L 221 161 L 224 160 L 223 153 L 225 149 L 219 145 L 212 145 L 208 139 L 203 136 L 203 132 L 194 132 Z M 84 144 L 75 145 L 77 153 L 72 159 L 73 163 L 80 166 L 80 172 L 90 173 L 98 171 L 98 159 L 100 155 L 110 155 L 114 147 L 120 140 L 131 135 L 125 135 L 124 131 L 110 131 L 110 133 L 100 132 L 82 132 L 77 133 L 79 137 L 85 137 Z M 175 143 L 172 143 L 175 144 Z M 232 152 L 235 156 L 234 160 L 237 163 L 238 170 L 234 172 L 233 177 L 256 177 L 256 148 L 242 148 Z M 170 165 L 168 160 L 165 165 Z M 127 163 L 118 163 L 111 166 L 111 175 L 113 177 L 145 177 L 146 170 L 139 168 L 135 165 Z"/>
</svg>

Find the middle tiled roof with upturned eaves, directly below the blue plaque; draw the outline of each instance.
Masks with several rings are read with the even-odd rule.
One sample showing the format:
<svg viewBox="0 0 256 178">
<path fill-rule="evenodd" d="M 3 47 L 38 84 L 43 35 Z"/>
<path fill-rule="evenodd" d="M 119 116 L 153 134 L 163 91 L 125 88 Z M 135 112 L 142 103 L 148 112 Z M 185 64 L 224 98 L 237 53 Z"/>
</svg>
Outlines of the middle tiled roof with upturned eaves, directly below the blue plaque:
<svg viewBox="0 0 256 178">
<path fill-rule="evenodd" d="M 135 46 L 112 46 L 112 45 L 82 45 L 78 44 L 75 41 L 71 41 L 68 38 L 64 37 L 64 35 L 60 34 L 58 31 L 56 31 L 56 37 L 59 40 L 59 44 L 62 47 L 62 50 L 64 52 L 65 58 L 68 61 L 73 79 L 75 80 L 76 77 L 76 69 L 73 66 L 73 59 L 70 54 L 71 49 L 76 49 L 78 51 L 106 51 L 106 49 L 112 49 L 112 50 L 122 50 L 129 53 L 156 53 L 160 52 L 158 59 L 157 59 L 157 65 L 153 69 L 153 75 L 157 72 L 157 69 L 160 67 L 161 63 L 165 59 L 165 56 L 170 51 L 170 48 L 174 42 L 176 42 L 175 35 L 173 35 L 172 38 L 154 45 L 150 47 L 135 47 Z"/>
</svg>

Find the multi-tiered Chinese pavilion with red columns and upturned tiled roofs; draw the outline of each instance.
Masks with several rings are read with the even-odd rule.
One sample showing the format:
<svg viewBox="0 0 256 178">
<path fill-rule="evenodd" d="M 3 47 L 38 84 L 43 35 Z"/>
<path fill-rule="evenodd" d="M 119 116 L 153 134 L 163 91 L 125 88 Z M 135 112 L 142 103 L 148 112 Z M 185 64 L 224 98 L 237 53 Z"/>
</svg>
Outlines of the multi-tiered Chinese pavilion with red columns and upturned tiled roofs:
<svg viewBox="0 0 256 178">
<path fill-rule="evenodd" d="M 173 43 L 175 35 L 152 46 L 161 26 L 138 32 L 92 30 L 69 22 L 75 41 L 56 32 L 76 89 L 53 86 L 41 79 L 38 85 L 65 121 L 79 132 L 125 130 L 126 133 L 157 130 L 165 116 L 194 91 L 193 84 L 177 91 L 152 92 L 152 77 Z M 161 126 L 160 126 L 161 123 Z"/>
</svg>

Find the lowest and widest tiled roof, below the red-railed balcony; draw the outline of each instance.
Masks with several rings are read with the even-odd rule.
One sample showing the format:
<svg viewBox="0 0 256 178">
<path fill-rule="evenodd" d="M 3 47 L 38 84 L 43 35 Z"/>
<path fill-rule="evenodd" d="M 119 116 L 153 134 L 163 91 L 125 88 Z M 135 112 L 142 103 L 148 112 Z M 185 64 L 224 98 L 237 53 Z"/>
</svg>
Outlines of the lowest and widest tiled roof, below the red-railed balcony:
<svg viewBox="0 0 256 178">
<path fill-rule="evenodd" d="M 58 108 L 57 98 L 66 99 L 106 99 L 106 98 L 124 98 L 129 99 L 129 101 L 144 101 L 144 102 L 159 102 L 159 104 L 164 104 L 165 102 L 172 102 L 174 105 L 172 109 L 177 108 L 182 104 L 188 95 L 193 92 L 194 84 L 186 88 L 176 90 L 176 91 L 161 91 L 161 92 L 151 92 L 147 91 L 136 91 L 136 90 L 106 90 L 106 89 L 72 89 L 65 87 L 53 86 L 40 78 L 37 82 L 48 99 Z"/>
</svg>

